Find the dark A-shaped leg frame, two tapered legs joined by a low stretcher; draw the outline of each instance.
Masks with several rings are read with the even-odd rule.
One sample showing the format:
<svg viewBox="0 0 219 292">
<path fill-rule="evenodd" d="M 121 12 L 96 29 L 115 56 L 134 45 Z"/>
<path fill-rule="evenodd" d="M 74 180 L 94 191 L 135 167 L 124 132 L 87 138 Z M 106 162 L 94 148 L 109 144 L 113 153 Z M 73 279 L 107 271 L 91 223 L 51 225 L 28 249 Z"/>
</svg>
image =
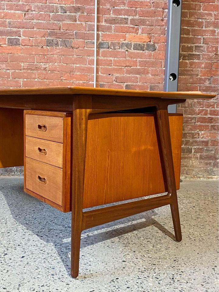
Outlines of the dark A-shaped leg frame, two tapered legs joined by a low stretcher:
<svg viewBox="0 0 219 292">
<path fill-rule="evenodd" d="M 127 100 L 128 101 L 128 100 Z M 130 203 L 83 212 L 85 155 L 89 114 L 93 113 L 93 100 L 88 95 L 75 95 L 73 103 L 73 152 L 72 152 L 72 217 L 71 217 L 71 276 L 79 273 L 81 232 L 83 230 L 122 219 L 151 209 L 170 205 L 176 241 L 182 240 L 179 208 L 176 193 L 172 148 L 167 107 L 183 103 L 185 99 L 148 99 L 144 107 L 155 107 L 155 129 L 162 166 L 166 195 Z M 133 108 L 136 107 L 133 101 Z M 143 107 L 143 106 L 142 106 Z M 96 112 L 97 109 L 95 109 Z M 114 109 L 116 110 L 116 109 Z"/>
</svg>

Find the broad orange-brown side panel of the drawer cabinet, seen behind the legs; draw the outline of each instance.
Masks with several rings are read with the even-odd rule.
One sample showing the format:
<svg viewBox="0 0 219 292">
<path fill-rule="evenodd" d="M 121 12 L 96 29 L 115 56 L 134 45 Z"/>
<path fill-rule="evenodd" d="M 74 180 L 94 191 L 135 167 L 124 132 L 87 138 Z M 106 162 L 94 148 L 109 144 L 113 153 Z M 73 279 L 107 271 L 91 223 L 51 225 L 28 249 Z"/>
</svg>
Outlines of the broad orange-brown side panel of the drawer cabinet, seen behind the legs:
<svg viewBox="0 0 219 292">
<path fill-rule="evenodd" d="M 170 114 L 179 189 L 182 115 Z M 91 115 L 83 208 L 165 192 L 153 114 Z"/>
</svg>

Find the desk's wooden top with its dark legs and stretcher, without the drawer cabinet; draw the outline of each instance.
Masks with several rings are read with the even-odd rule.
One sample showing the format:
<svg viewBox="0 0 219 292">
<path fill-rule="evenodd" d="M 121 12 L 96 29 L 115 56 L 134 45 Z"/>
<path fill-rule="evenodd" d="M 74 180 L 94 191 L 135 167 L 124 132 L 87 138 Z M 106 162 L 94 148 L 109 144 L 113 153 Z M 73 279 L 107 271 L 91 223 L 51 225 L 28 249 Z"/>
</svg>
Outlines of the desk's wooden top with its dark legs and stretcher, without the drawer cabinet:
<svg viewBox="0 0 219 292">
<path fill-rule="evenodd" d="M 88 228 L 170 205 L 176 241 L 182 240 L 167 107 L 172 104 L 184 103 L 187 98 L 211 99 L 214 97 L 215 95 L 202 94 L 201 92 L 148 92 L 83 87 L 0 90 L 0 108 L 72 112 L 71 276 L 73 278 L 76 278 L 79 273 L 81 232 Z M 147 107 L 152 107 L 155 113 L 155 129 L 167 194 L 83 211 L 89 114 Z M 4 129 L 1 133 L 3 136 Z"/>
</svg>

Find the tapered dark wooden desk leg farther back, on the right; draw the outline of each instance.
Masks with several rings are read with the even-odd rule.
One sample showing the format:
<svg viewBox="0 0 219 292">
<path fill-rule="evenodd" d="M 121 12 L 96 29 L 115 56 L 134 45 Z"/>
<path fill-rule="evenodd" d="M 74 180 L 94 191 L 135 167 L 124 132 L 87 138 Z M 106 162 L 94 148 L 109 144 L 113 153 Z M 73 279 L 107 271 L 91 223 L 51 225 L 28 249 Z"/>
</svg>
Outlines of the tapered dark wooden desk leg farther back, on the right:
<svg viewBox="0 0 219 292">
<path fill-rule="evenodd" d="M 156 131 L 162 165 L 162 172 L 166 191 L 171 194 L 171 213 L 176 241 L 182 240 L 179 208 L 176 194 L 176 181 L 174 174 L 172 148 L 169 129 L 169 117 L 167 108 L 156 110 Z"/>
</svg>

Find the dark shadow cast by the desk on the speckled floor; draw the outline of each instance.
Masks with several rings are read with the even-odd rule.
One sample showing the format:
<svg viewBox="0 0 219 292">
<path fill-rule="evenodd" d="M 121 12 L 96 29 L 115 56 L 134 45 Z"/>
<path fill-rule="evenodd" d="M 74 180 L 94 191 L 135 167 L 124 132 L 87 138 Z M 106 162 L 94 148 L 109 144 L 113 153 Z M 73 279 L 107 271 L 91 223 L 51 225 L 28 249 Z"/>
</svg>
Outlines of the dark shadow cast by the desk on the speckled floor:
<svg viewBox="0 0 219 292">
<path fill-rule="evenodd" d="M 56 210 L 55 208 L 24 193 L 23 179 L 21 178 L 16 178 L 16 180 L 13 178 L 9 183 L 5 179 L 1 184 L 1 192 L 3 193 L 14 220 L 19 224 L 22 224 L 44 242 L 52 243 L 61 258 L 65 269 L 70 275 L 69 254 L 71 252 L 71 212 L 62 213 L 61 211 Z M 156 215 L 157 213 L 155 210 L 151 210 L 134 215 L 134 220 L 144 219 L 144 221 L 141 222 L 128 224 L 131 219 L 130 217 L 127 217 L 85 230 L 82 232 L 81 248 L 95 245 L 99 242 L 149 226 L 158 228 L 165 235 L 175 240 L 175 236 L 153 218 Z M 128 225 L 116 228 L 116 226 L 120 224 Z M 113 229 L 101 232 L 101 230 L 106 227 L 113 227 Z M 91 233 L 91 231 L 98 231 L 98 233 L 90 235 L 89 232 Z"/>
</svg>

